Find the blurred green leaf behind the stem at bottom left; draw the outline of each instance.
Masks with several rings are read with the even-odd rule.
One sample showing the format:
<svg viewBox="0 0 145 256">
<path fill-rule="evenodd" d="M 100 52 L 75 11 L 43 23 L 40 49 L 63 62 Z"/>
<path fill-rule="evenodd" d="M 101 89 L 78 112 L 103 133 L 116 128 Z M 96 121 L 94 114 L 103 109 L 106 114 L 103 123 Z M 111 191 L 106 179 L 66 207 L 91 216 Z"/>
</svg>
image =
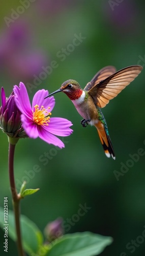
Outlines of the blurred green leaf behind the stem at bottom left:
<svg viewBox="0 0 145 256">
<path fill-rule="evenodd" d="M 0 207 L 0 226 L 4 230 L 4 208 Z M 9 237 L 16 241 L 16 231 L 15 231 L 15 221 L 13 211 L 8 209 L 8 234 Z M 39 248 L 42 247 L 43 237 L 42 233 L 36 224 L 25 217 L 24 215 L 20 216 L 20 225 L 22 232 L 22 243 L 24 250 L 32 255 L 32 253 L 37 253 Z"/>
</svg>

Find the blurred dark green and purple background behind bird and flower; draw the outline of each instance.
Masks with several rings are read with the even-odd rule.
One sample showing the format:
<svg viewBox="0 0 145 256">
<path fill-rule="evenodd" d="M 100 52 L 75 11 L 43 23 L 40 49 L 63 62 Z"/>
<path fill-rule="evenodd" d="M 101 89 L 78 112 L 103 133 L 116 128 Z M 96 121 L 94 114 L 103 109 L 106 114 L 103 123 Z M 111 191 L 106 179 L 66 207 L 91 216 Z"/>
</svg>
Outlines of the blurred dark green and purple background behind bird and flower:
<svg viewBox="0 0 145 256">
<path fill-rule="evenodd" d="M 99 69 L 107 65 L 113 65 L 117 70 L 136 64 L 144 66 L 143 0 L 27 0 L 27 5 L 21 8 L 24 2 L 6 0 L 0 8 L 0 81 L 7 96 L 20 81 L 25 83 L 32 99 L 39 89 L 48 89 L 51 93 L 70 78 L 77 80 L 83 88 Z M 82 42 L 76 47 L 70 46 L 80 34 Z M 67 49 L 66 53 L 62 53 L 63 49 Z M 49 74 L 42 75 L 43 67 L 50 67 L 54 60 L 57 67 L 48 68 Z M 143 70 L 102 110 L 115 161 L 105 157 L 95 127 L 84 129 L 69 98 L 63 93 L 56 94 L 52 114 L 71 120 L 74 132 L 64 138 L 66 146 L 63 150 L 56 151 L 53 145 L 40 139 L 21 139 L 17 144 L 17 187 L 27 179 L 27 188 L 40 188 L 36 194 L 21 201 L 22 214 L 43 231 L 46 224 L 57 217 L 62 217 L 66 223 L 67 219 L 72 220 L 79 204 L 86 204 L 91 209 L 71 226 L 69 232 L 89 230 L 113 237 L 112 245 L 102 256 L 144 255 L 145 241 L 138 236 L 142 236 L 145 229 L 145 156 L 140 156 L 136 162 L 129 161 L 129 154 L 138 154 L 139 148 L 145 152 L 144 93 Z M 2 132 L 0 140 L 1 206 L 7 196 L 9 209 L 12 209 L 8 140 Z M 45 153 L 53 155 L 47 163 L 40 161 L 47 158 Z M 122 163 L 130 167 L 126 167 L 126 173 L 117 180 L 114 172 L 121 173 Z M 30 171 L 36 164 L 41 171 L 32 178 Z M 0 232 L 0 253 L 4 255 L 4 234 L 2 230 Z M 136 239 L 137 246 L 132 252 L 132 247 L 127 249 L 126 245 Z M 17 255 L 15 243 L 10 238 L 7 255 Z"/>
</svg>

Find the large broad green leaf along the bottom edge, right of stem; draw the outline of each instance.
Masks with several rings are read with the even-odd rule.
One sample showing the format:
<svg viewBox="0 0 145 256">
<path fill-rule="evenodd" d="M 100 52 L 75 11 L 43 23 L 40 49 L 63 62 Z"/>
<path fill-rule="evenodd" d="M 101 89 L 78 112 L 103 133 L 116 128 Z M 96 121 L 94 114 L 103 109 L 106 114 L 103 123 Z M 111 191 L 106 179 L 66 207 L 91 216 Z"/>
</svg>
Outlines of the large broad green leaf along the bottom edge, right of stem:
<svg viewBox="0 0 145 256">
<path fill-rule="evenodd" d="M 112 243 L 111 237 L 104 237 L 91 232 L 66 234 L 52 243 L 46 256 L 96 256 L 107 245 Z"/>
</svg>

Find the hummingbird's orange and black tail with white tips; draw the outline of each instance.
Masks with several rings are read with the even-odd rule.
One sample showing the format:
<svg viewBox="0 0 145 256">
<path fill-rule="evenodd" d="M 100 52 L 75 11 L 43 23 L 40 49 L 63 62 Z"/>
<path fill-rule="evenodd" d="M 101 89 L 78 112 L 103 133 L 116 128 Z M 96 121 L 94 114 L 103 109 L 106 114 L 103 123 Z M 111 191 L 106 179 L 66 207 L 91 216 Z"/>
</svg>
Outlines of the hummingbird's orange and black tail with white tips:
<svg viewBox="0 0 145 256">
<path fill-rule="evenodd" d="M 113 147 L 112 147 L 112 143 L 110 140 L 109 135 L 107 135 L 104 125 L 102 124 L 102 122 L 96 123 L 95 124 L 98 134 L 99 134 L 99 138 L 101 140 L 105 155 L 107 157 L 112 157 L 115 160 L 115 154 L 113 151 Z"/>
</svg>

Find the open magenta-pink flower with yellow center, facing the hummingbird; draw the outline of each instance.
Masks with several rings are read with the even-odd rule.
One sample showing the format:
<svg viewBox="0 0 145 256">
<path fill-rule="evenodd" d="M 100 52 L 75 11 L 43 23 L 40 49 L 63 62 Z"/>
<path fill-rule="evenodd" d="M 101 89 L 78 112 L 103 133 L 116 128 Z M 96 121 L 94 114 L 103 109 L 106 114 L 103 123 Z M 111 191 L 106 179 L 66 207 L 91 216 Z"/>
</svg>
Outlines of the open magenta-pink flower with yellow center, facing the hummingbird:
<svg viewBox="0 0 145 256">
<path fill-rule="evenodd" d="M 48 91 L 39 90 L 33 98 L 32 106 L 28 98 L 26 88 L 22 82 L 19 87 L 14 86 L 15 103 L 22 113 L 21 122 L 28 137 L 36 139 L 40 137 L 49 144 L 65 147 L 64 143 L 57 136 L 69 136 L 73 130 L 70 129 L 72 123 L 60 117 L 50 117 L 50 111 L 55 105 L 54 97 L 44 99 L 48 96 Z"/>
</svg>

